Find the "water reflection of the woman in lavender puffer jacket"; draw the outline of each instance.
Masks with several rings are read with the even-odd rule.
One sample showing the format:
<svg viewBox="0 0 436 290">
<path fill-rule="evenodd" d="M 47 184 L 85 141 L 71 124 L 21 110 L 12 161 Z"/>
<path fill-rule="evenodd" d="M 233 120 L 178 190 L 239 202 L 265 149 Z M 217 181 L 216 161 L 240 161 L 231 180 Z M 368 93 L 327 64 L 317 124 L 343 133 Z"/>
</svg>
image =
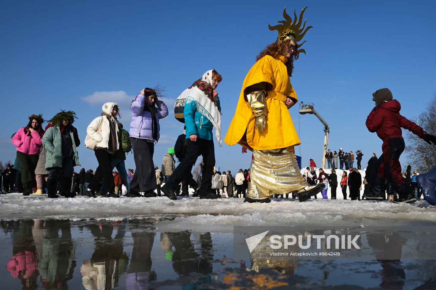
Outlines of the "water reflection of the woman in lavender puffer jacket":
<svg viewBox="0 0 436 290">
<path fill-rule="evenodd" d="M 157 280 L 156 272 L 151 270 L 151 249 L 155 233 L 142 229 L 134 231 L 145 225 L 150 225 L 150 223 L 140 220 L 129 221 L 129 229 L 133 230 L 133 250 L 126 274 L 127 290 L 150 289 L 150 282 Z"/>
</svg>

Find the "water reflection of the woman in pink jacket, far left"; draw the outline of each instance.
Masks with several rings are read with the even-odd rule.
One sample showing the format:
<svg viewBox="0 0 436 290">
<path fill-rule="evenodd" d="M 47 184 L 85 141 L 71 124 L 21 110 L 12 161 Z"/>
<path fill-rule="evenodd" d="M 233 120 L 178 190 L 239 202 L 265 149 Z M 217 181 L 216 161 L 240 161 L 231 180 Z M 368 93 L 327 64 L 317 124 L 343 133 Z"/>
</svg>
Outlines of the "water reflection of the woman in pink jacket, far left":
<svg viewBox="0 0 436 290">
<path fill-rule="evenodd" d="M 38 260 L 32 236 L 32 221 L 20 221 L 13 230 L 12 259 L 7 263 L 6 269 L 12 277 L 20 279 L 23 289 L 37 289 Z"/>
</svg>

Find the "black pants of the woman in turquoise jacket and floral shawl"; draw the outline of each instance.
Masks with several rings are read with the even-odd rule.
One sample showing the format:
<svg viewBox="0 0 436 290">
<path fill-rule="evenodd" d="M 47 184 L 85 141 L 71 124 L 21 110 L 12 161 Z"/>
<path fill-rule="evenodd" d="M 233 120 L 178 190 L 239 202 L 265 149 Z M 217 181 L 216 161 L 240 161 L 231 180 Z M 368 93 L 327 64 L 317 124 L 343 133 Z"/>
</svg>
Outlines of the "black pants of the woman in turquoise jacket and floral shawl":
<svg viewBox="0 0 436 290">
<path fill-rule="evenodd" d="M 201 177 L 200 196 L 215 193 L 212 189 L 212 175 L 215 166 L 215 147 L 213 140 L 197 138 L 196 142 L 187 139 L 186 155 L 182 162 L 174 170 L 171 179 L 167 182 L 167 188 L 176 189 L 176 185 L 182 182 L 186 172 L 191 172 L 192 166 L 197 162 L 198 156 L 203 156 L 203 176 Z M 131 185 L 130 185 L 131 186 Z"/>
</svg>

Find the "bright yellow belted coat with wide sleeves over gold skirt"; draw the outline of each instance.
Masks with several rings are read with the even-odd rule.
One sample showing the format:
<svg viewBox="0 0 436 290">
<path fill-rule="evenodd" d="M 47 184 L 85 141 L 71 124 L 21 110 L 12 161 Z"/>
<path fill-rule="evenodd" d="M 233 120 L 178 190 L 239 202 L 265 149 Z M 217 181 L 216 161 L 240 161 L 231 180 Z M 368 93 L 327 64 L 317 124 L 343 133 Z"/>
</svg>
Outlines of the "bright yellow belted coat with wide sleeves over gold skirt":
<svg viewBox="0 0 436 290">
<path fill-rule="evenodd" d="M 297 99 L 286 70 L 286 61 L 288 59 L 284 56 L 274 59 L 266 55 L 250 69 L 242 84 L 235 115 L 224 139 L 226 144 L 238 143 L 251 151 L 279 148 L 294 151 L 293 146 L 301 144 L 285 105 L 286 96 Z M 271 84 L 272 88 L 268 88 L 271 91 L 266 91 L 266 128 L 260 133 L 255 130 L 255 116 L 245 101 L 244 90 L 263 81 Z"/>
</svg>

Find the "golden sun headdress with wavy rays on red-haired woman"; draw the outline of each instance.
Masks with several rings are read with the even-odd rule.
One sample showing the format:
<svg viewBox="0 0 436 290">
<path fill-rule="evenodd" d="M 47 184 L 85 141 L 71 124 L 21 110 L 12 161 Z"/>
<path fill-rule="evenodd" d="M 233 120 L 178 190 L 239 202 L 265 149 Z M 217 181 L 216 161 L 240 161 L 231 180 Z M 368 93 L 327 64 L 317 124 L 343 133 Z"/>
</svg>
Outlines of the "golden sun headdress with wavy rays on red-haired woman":
<svg viewBox="0 0 436 290">
<path fill-rule="evenodd" d="M 278 21 L 281 24 L 277 24 L 275 26 L 271 26 L 268 24 L 269 30 L 277 30 L 279 32 L 279 37 L 277 37 L 276 42 L 280 42 L 286 39 L 290 39 L 293 40 L 296 44 L 298 44 L 298 47 L 300 48 L 303 43 L 306 42 L 303 41 L 302 43 L 298 43 L 298 41 L 303 39 L 304 34 L 306 34 L 307 30 L 309 30 L 310 28 L 313 28 L 312 26 L 308 26 L 306 27 L 306 29 L 304 29 L 304 27 L 306 26 L 306 20 L 304 20 L 304 24 L 303 27 L 301 27 L 301 23 L 303 21 L 303 13 L 304 10 L 306 10 L 307 7 L 304 7 L 303 10 L 301 10 L 300 13 L 300 20 L 298 20 L 297 22 L 297 15 L 295 13 L 294 10 L 294 20 L 292 21 L 292 18 L 286 13 L 286 7 L 285 9 L 283 9 L 283 17 L 285 18 L 285 20 L 281 20 Z M 304 49 L 299 49 L 298 52 L 303 52 L 304 54 L 306 54 L 306 51 Z"/>
</svg>

